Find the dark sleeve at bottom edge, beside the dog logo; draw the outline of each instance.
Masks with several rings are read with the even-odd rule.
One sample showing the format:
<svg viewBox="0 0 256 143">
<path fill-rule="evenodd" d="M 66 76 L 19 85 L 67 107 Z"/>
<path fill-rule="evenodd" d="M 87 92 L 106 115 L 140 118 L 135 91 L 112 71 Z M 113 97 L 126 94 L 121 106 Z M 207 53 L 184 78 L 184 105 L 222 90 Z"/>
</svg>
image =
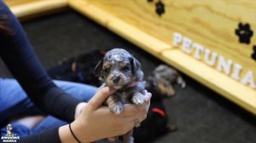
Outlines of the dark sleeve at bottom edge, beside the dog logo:
<svg viewBox="0 0 256 143">
<path fill-rule="evenodd" d="M 49 129 L 31 136 L 20 137 L 20 143 L 61 143 L 59 129 Z"/>
</svg>

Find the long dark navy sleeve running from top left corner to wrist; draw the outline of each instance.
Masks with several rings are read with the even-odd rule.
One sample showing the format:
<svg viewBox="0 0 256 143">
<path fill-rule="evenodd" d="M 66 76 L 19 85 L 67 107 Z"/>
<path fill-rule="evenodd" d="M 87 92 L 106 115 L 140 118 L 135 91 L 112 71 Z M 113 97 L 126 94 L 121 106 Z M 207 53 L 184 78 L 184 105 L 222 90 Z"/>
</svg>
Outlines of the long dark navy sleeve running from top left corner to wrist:
<svg viewBox="0 0 256 143">
<path fill-rule="evenodd" d="M 0 55 L 29 98 L 42 111 L 72 122 L 75 107 L 82 102 L 56 87 L 32 49 L 20 22 L 0 0 L 0 16 L 7 15 L 11 32 L 0 29 Z M 1 20 L 1 19 L 0 19 Z"/>
</svg>

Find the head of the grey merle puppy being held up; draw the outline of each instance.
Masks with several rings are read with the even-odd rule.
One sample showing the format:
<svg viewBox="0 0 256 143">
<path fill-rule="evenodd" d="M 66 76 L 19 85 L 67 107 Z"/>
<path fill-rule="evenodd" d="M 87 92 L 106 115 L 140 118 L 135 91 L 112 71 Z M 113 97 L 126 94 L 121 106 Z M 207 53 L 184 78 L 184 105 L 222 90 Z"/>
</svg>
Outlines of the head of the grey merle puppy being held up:
<svg viewBox="0 0 256 143">
<path fill-rule="evenodd" d="M 124 49 L 110 50 L 96 66 L 95 74 L 113 89 L 122 89 L 143 77 L 138 61 Z"/>
</svg>

